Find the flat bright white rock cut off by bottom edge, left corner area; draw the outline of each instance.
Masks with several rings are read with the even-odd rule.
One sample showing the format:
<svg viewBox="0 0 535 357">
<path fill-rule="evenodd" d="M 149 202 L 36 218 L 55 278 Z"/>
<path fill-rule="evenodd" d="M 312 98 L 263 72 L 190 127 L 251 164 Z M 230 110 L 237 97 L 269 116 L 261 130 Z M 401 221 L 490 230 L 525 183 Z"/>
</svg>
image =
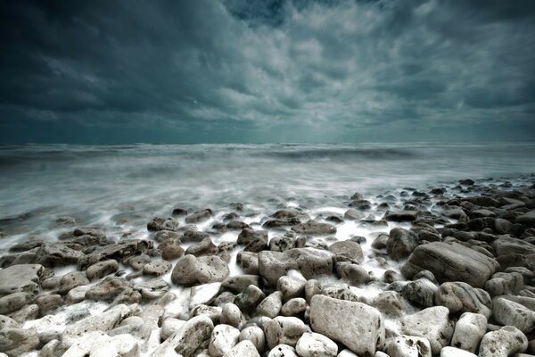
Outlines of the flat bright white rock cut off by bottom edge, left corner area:
<svg viewBox="0 0 535 357">
<path fill-rule="evenodd" d="M 62 355 L 62 357 L 125 356 L 138 354 L 138 342 L 128 335 L 108 336 L 101 331 L 86 333 Z"/>
</svg>

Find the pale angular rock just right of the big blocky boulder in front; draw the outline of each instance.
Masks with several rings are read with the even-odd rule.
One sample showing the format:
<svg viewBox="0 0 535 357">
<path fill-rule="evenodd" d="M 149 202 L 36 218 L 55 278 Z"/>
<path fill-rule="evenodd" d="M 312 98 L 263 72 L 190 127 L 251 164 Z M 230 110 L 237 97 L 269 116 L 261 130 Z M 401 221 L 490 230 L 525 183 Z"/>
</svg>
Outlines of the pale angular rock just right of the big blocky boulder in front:
<svg viewBox="0 0 535 357">
<path fill-rule="evenodd" d="M 453 335 L 453 324 L 449 310 L 435 306 L 407 315 L 401 320 L 401 330 L 409 336 L 424 337 L 431 345 L 432 354 L 439 354 L 442 347 L 449 345 Z"/>
</svg>

